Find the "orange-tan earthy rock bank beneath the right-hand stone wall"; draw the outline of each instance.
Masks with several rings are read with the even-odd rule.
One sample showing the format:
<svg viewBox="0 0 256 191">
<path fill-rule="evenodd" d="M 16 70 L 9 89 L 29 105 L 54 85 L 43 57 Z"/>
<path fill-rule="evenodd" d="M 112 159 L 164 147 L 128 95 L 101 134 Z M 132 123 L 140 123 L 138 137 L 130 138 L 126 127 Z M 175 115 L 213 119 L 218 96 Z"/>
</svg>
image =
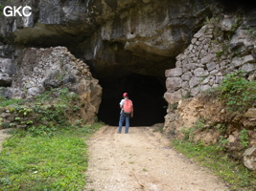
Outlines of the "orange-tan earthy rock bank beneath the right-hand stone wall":
<svg viewBox="0 0 256 191">
<path fill-rule="evenodd" d="M 215 97 L 200 95 L 180 100 L 168 109 L 164 132 L 172 138 L 217 144 L 231 157 L 243 159 L 244 149 L 256 144 L 255 125 L 256 117 L 230 113 Z"/>
</svg>

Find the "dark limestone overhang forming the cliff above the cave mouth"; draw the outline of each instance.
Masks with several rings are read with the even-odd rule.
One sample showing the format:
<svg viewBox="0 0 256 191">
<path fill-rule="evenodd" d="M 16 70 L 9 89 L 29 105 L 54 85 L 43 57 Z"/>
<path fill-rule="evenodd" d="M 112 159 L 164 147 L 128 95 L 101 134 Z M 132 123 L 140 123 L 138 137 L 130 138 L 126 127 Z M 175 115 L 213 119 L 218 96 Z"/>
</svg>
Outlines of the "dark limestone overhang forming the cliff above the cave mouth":
<svg viewBox="0 0 256 191">
<path fill-rule="evenodd" d="M 30 17 L 1 16 L 5 47 L 65 46 L 100 77 L 118 71 L 163 75 L 213 14 L 209 4 L 190 0 L 24 0 L 3 6 L 9 4 L 33 11 Z"/>
</svg>

